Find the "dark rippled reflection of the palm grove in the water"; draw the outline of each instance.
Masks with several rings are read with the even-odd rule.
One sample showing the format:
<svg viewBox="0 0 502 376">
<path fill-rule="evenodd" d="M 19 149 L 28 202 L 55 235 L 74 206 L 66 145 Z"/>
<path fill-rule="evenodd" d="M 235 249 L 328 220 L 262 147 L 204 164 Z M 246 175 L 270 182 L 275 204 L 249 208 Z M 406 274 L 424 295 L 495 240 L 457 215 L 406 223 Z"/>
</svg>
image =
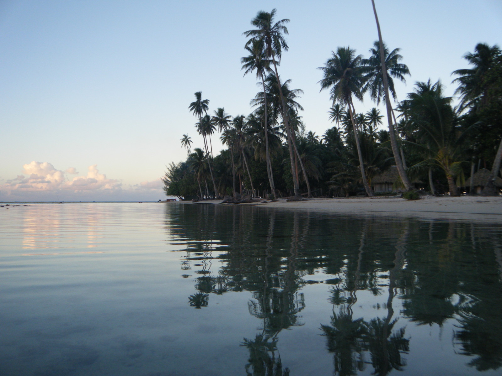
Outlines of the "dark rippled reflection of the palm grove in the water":
<svg viewBox="0 0 502 376">
<path fill-rule="evenodd" d="M 279 339 L 283 329 L 308 321 L 300 314 L 308 298 L 302 289 L 310 282 L 329 285 L 333 313 L 321 333 L 336 374 L 368 366 L 379 375 L 403 369 L 410 347 L 405 322 L 414 330 L 453 324 L 455 352 L 471 357 L 466 364 L 502 366 L 502 294 L 496 293 L 502 291 L 502 238 L 495 226 L 179 207 L 170 207 L 180 210 L 185 225 L 176 236 L 190 244 L 182 268 L 196 275 L 189 303 L 201 308 L 211 294 L 252 293 L 249 313 L 261 325 L 242 342 L 248 374 L 287 374 Z M 361 296 L 368 292 L 384 301 L 362 318 Z"/>
</svg>

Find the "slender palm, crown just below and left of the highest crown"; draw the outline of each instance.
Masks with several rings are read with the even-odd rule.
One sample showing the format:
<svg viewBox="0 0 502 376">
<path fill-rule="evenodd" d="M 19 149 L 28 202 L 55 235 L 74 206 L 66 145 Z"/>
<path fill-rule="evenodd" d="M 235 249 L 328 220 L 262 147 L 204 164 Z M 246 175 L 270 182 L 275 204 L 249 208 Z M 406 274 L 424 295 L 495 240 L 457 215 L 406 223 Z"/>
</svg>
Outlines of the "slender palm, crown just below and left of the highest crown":
<svg viewBox="0 0 502 376">
<path fill-rule="evenodd" d="M 267 95 L 265 88 L 265 78 L 264 73 L 266 71 L 270 71 L 270 59 L 267 59 L 264 51 L 265 44 L 263 40 L 255 40 L 250 45 L 245 46 L 244 48 L 249 52 L 247 57 L 243 57 L 240 59 L 240 63 L 242 64 L 241 69 L 245 69 L 244 76 L 256 70 L 257 78 L 262 80 L 263 85 L 263 93 L 264 93 L 264 111 L 263 111 L 263 127 L 265 129 L 265 154 L 266 154 L 266 164 L 267 164 L 267 175 L 269 177 L 270 190 L 272 191 L 272 195 L 274 199 L 277 199 L 276 187 L 274 183 L 274 174 L 272 171 L 272 161 L 270 159 L 270 151 L 269 151 L 269 140 L 268 140 L 268 130 L 267 130 Z"/>
</svg>

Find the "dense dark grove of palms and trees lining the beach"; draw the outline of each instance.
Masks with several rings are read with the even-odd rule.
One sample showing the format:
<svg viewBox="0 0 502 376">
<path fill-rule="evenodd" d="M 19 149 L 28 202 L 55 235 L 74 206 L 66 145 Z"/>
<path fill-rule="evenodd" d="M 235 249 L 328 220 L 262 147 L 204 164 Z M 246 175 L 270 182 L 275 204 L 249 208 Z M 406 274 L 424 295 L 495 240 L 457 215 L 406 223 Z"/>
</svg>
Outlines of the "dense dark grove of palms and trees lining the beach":
<svg viewBox="0 0 502 376">
<path fill-rule="evenodd" d="M 464 58 L 468 69 L 453 71 L 458 105 L 444 94 L 441 82 L 417 82 L 399 98 L 394 80 L 410 75 L 400 49 L 378 37 L 364 58 L 350 47 L 338 47 L 319 69 L 320 89 L 328 118 L 324 134 L 307 131 L 302 119 L 301 89 L 279 75 L 288 19 L 275 22 L 276 10 L 261 11 L 243 33 L 244 75 L 255 73 L 260 87 L 250 99 L 252 112 L 230 115 L 223 107 L 209 114 L 209 100 L 195 93 L 189 110 L 196 117 L 203 145 L 191 150 L 188 134 L 181 138 L 188 157 L 172 162 L 163 181 L 168 196 L 204 199 L 231 196 L 351 196 L 375 194 L 372 180 L 396 166 L 394 190 L 422 189 L 432 195 L 473 193 L 473 174 L 490 170 L 483 193 L 498 195 L 496 177 L 502 160 L 502 52 L 479 43 Z M 365 93 L 386 113 L 373 107 L 357 113 L 354 101 Z M 329 99 L 329 101 L 328 101 Z M 331 106 L 330 106 L 331 104 Z M 388 128 L 382 128 L 386 119 Z M 220 133 L 226 149 L 212 150 L 211 136 Z M 470 178 L 469 178 L 470 176 Z M 378 190 L 376 190 L 378 191 Z M 378 192 L 377 192 L 378 194 Z"/>
</svg>

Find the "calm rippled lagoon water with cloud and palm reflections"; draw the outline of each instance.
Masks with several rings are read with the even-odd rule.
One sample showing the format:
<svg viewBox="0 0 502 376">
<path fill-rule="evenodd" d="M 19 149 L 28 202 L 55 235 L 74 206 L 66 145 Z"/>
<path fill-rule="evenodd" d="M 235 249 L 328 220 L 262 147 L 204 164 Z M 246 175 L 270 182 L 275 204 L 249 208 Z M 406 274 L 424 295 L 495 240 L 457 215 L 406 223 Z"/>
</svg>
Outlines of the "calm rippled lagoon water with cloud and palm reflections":
<svg viewBox="0 0 502 376">
<path fill-rule="evenodd" d="M 502 373 L 499 224 L 11 205 L 0 268 L 3 376 Z"/>
</svg>

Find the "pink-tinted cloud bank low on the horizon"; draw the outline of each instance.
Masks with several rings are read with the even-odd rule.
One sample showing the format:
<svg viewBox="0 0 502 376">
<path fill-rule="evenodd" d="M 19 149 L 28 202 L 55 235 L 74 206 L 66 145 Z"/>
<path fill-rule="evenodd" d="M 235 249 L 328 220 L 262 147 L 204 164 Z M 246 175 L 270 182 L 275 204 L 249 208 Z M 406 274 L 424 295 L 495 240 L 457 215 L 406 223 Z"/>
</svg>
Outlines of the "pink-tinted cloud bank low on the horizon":
<svg viewBox="0 0 502 376">
<path fill-rule="evenodd" d="M 75 167 L 55 168 L 49 162 L 32 161 L 23 165 L 23 174 L 0 181 L 0 201 L 157 201 L 165 198 L 162 180 L 122 184 L 99 173 L 97 164 L 87 175 Z M 77 175 L 69 178 L 68 175 Z"/>
</svg>

